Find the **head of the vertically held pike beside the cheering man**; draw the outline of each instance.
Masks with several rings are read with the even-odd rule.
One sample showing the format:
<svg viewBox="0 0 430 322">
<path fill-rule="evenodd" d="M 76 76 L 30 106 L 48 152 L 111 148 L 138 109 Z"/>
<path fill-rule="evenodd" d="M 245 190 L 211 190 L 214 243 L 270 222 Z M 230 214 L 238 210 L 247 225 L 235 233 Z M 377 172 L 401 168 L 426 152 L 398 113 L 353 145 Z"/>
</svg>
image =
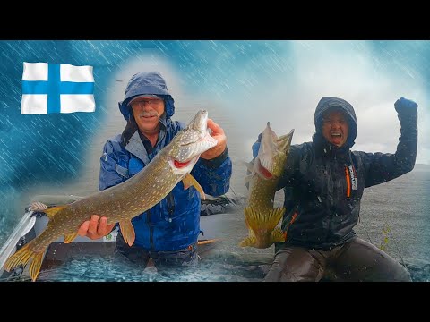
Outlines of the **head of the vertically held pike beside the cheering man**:
<svg viewBox="0 0 430 322">
<path fill-rule="evenodd" d="M 278 137 L 271 130 L 268 122 L 262 131 L 262 140 L 254 162 L 254 171 L 262 179 L 271 180 L 279 178 L 287 161 L 289 147 L 293 138 L 294 129 L 287 135 Z"/>
</svg>

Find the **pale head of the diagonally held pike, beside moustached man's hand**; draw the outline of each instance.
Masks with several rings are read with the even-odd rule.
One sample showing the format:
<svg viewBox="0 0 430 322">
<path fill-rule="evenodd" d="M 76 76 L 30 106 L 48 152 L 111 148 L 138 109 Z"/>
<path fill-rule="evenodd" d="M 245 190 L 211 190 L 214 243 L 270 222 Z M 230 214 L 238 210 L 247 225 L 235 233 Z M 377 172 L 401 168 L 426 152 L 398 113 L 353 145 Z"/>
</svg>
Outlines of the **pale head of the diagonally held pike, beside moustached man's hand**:
<svg viewBox="0 0 430 322">
<path fill-rule="evenodd" d="M 188 126 L 170 142 L 168 164 L 175 174 L 190 173 L 200 155 L 217 145 L 208 131 L 208 112 L 200 110 Z"/>
</svg>

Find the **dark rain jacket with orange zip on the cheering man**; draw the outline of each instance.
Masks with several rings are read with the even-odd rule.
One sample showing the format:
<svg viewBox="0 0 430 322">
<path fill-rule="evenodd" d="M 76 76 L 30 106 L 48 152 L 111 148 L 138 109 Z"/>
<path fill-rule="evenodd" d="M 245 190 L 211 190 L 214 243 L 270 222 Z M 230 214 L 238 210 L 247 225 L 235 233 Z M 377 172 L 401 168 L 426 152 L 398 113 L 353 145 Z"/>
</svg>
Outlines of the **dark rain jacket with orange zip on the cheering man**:
<svg viewBox="0 0 430 322">
<path fill-rule="evenodd" d="M 338 148 L 323 138 L 323 114 L 340 107 L 348 115 L 348 140 Z M 292 145 L 280 189 L 286 213 L 284 245 L 330 250 L 356 235 L 363 191 L 414 168 L 417 157 L 417 108 L 398 108 L 400 139 L 390 153 L 351 151 L 357 136 L 354 108 L 345 100 L 323 97 L 314 114 L 312 142 Z M 278 243 L 277 248 L 283 243 Z"/>
</svg>

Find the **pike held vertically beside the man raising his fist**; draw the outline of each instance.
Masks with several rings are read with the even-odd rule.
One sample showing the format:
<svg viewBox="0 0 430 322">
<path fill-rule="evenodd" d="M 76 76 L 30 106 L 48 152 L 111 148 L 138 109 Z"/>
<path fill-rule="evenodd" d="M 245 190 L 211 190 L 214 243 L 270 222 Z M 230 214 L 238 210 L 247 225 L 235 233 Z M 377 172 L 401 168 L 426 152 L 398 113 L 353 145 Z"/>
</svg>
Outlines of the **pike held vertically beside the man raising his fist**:
<svg viewBox="0 0 430 322">
<path fill-rule="evenodd" d="M 251 174 L 249 199 L 245 207 L 246 237 L 240 246 L 268 248 L 273 242 L 284 242 L 285 236 L 277 225 L 284 215 L 285 208 L 273 208 L 275 192 L 280 175 L 288 158 L 288 151 L 294 130 L 278 138 L 268 122 L 262 131 L 262 140 L 254 163 L 248 164 Z M 276 227 L 276 228 L 275 228 Z"/>
</svg>

